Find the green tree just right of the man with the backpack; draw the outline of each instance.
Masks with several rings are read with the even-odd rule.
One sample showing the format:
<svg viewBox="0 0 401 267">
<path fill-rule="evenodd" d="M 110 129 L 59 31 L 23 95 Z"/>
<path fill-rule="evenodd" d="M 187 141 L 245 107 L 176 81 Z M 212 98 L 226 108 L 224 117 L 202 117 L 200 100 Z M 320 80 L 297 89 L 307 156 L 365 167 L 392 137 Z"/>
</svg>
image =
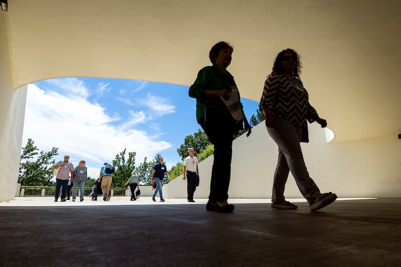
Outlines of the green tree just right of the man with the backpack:
<svg viewBox="0 0 401 267">
<path fill-rule="evenodd" d="M 125 153 L 127 149 L 124 148 L 122 152 L 116 155 L 113 160 L 113 180 L 112 187 L 125 187 L 124 184 L 131 176 L 131 172 L 135 169 L 135 155 L 136 152 L 128 152 L 128 159 L 125 160 Z"/>
</svg>

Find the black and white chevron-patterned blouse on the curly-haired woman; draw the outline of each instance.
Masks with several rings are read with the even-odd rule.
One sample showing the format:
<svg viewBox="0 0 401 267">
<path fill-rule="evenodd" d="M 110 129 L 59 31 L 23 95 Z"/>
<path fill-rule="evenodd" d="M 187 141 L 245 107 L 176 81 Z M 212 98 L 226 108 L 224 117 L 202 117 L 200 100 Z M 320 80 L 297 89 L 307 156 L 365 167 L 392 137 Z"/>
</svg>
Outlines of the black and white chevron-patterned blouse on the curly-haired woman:
<svg viewBox="0 0 401 267">
<path fill-rule="evenodd" d="M 288 74 L 272 73 L 263 88 L 259 108 L 268 107 L 273 116 L 288 120 L 302 126 L 318 118 L 316 110 L 309 104 L 308 92 L 301 80 Z"/>
</svg>

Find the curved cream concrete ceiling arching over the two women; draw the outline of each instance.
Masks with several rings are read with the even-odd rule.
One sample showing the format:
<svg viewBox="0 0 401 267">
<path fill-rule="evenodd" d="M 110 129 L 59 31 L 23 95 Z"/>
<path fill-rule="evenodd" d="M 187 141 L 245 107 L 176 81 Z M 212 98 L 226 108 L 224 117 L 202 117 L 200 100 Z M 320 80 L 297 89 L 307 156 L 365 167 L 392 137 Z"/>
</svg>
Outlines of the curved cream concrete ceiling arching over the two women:
<svg viewBox="0 0 401 267">
<path fill-rule="evenodd" d="M 398 0 L 9 0 L 14 87 L 65 77 L 191 85 L 209 50 L 234 46 L 229 71 L 260 100 L 277 53 L 302 57 L 310 102 L 335 142 L 401 132 Z"/>
</svg>

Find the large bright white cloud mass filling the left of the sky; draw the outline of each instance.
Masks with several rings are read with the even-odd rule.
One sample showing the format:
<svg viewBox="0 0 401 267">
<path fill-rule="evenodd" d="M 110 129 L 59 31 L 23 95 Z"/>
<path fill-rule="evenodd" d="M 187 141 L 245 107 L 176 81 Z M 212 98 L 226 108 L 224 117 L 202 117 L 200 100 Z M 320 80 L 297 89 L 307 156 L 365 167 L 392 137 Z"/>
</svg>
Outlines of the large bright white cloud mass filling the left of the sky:
<svg viewBox="0 0 401 267">
<path fill-rule="evenodd" d="M 159 140 L 158 135 L 148 135 L 132 127 L 151 119 L 142 111 L 130 111 L 129 121 L 115 126 L 115 121 L 120 120 L 118 114 L 110 117 L 99 104 L 88 102 L 82 97 L 82 92 L 89 95 L 89 91 L 78 79 L 74 79 L 62 79 L 62 82 L 67 80 L 67 85 L 60 81 L 49 84 L 66 90 L 80 88 L 81 96 L 77 95 L 76 90 L 71 91 L 73 94 L 51 90 L 45 92 L 34 84 L 28 85 L 23 146 L 28 138 L 32 138 L 40 150 L 49 151 L 52 147 L 59 147 L 56 160 L 69 154 L 74 166 L 84 158 L 89 175 L 93 178 L 98 177 L 103 162 L 111 162 L 124 148 L 136 152 L 136 163 L 139 164 L 145 156 L 153 158 L 157 152 L 172 146 Z M 174 108 L 159 106 L 169 111 Z"/>
</svg>

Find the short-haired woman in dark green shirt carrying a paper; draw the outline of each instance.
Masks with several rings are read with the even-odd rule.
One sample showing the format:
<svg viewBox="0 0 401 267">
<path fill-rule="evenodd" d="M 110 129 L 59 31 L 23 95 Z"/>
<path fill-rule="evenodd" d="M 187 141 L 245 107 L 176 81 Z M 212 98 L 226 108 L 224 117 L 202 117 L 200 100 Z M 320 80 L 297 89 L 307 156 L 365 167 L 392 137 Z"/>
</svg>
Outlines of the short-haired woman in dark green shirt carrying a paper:
<svg viewBox="0 0 401 267">
<path fill-rule="evenodd" d="M 234 133 L 251 126 L 245 117 L 240 93 L 234 77 L 227 71 L 233 47 L 219 42 L 209 52 L 212 66 L 201 69 L 189 88 L 189 96 L 196 98 L 196 120 L 215 146 L 212 178 L 207 210 L 231 212 L 228 190 L 231 176 L 231 158 Z"/>
</svg>

